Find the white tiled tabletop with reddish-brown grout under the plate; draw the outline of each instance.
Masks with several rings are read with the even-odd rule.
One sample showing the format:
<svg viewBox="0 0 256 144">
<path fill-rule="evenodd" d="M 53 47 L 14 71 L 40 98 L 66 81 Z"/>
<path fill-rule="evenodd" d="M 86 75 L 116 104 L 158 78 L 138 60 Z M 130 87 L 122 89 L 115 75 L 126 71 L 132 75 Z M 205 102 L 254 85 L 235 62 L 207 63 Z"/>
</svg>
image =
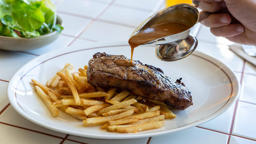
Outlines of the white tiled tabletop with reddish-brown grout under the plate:
<svg viewBox="0 0 256 144">
<path fill-rule="evenodd" d="M 97 140 L 55 132 L 26 120 L 10 106 L 6 87 L 12 74 L 38 55 L 65 46 L 128 40 L 134 28 L 164 8 L 164 0 L 54 0 L 65 30 L 54 43 L 27 52 L 0 50 L 0 144 L 256 144 L 256 68 L 228 49 L 232 42 L 196 27 L 198 51 L 226 63 L 241 80 L 237 103 L 224 114 L 194 128 L 152 138 Z"/>
</svg>

